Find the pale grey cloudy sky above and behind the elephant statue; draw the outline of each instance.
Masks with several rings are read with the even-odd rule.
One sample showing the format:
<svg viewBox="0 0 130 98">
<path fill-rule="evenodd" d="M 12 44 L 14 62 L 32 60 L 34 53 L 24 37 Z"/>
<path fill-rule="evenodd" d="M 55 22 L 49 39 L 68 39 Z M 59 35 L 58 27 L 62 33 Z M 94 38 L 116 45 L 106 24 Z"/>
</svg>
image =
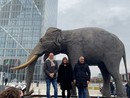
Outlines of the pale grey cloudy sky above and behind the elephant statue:
<svg viewBox="0 0 130 98">
<path fill-rule="evenodd" d="M 125 44 L 130 72 L 130 0 L 59 0 L 58 28 L 101 27 L 117 35 Z M 99 73 L 91 67 L 92 74 Z M 121 73 L 124 65 L 121 63 Z"/>
</svg>

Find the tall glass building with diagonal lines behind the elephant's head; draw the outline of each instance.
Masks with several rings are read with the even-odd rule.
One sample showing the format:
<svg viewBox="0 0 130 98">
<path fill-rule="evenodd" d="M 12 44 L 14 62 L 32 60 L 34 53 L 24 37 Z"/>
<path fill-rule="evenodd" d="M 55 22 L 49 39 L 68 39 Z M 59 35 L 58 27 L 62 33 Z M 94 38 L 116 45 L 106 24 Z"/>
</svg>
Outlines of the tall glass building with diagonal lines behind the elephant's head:
<svg viewBox="0 0 130 98">
<path fill-rule="evenodd" d="M 57 26 L 57 0 L 0 0 L 0 80 L 23 81 L 25 69 L 10 67 L 26 62 L 48 27 Z M 41 59 L 34 81 L 42 79 Z M 40 72 L 39 72 L 40 71 Z"/>
</svg>

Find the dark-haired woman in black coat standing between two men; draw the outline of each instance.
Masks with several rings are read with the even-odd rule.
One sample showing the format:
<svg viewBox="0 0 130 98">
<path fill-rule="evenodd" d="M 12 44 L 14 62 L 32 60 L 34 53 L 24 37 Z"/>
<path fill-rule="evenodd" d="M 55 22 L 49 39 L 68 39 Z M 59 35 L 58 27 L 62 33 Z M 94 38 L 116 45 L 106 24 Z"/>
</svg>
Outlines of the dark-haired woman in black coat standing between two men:
<svg viewBox="0 0 130 98">
<path fill-rule="evenodd" d="M 67 90 L 67 98 L 70 98 L 70 90 L 72 89 L 73 71 L 66 57 L 63 58 L 59 66 L 57 82 L 62 90 L 62 97 L 65 98 L 65 90 Z"/>
</svg>

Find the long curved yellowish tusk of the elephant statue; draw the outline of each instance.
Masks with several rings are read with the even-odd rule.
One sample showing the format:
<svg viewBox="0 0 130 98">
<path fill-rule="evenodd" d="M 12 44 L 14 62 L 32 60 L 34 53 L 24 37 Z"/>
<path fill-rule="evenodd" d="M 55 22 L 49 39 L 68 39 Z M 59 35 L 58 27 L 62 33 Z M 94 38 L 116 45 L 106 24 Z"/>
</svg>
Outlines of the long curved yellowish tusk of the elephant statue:
<svg viewBox="0 0 130 98">
<path fill-rule="evenodd" d="M 20 70 L 20 69 L 23 69 L 23 68 L 29 66 L 37 58 L 38 58 L 38 55 L 33 55 L 29 61 L 27 61 L 26 63 L 24 63 L 24 64 L 22 64 L 20 66 L 13 67 L 13 68 L 11 68 L 11 70 Z"/>
</svg>

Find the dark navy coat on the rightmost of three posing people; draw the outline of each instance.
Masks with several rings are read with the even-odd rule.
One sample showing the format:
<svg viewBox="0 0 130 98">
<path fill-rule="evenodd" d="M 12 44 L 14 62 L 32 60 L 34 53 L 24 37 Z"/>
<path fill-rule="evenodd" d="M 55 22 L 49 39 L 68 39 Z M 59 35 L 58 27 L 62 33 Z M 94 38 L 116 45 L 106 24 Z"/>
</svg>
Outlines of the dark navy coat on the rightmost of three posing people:
<svg viewBox="0 0 130 98">
<path fill-rule="evenodd" d="M 77 87 L 87 87 L 87 81 L 90 81 L 90 69 L 88 64 L 80 64 L 79 62 L 74 67 L 74 79 Z"/>
</svg>

